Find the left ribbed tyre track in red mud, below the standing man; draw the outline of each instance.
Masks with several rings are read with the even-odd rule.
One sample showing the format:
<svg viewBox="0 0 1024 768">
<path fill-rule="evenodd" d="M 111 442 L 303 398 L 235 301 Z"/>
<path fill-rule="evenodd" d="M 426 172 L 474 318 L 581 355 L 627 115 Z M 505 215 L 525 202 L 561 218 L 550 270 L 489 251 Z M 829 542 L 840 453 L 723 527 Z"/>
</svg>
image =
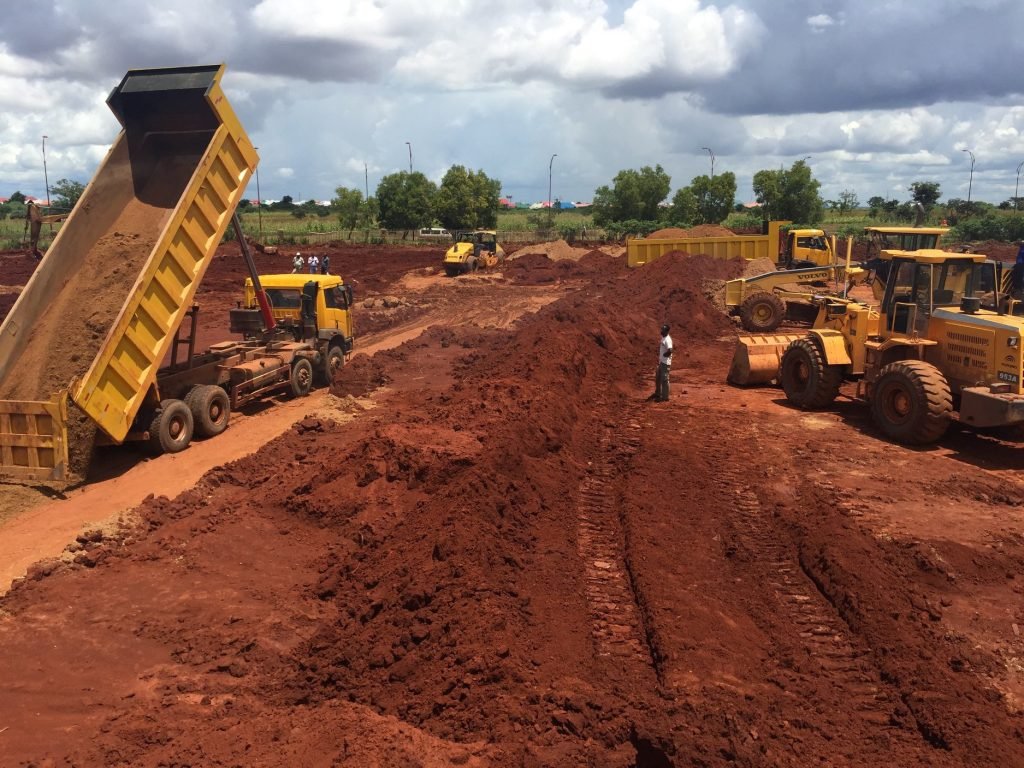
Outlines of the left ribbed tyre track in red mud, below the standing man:
<svg viewBox="0 0 1024 768">
<path fill-rule="evenodd" d="M 620 500 L 613 490 L 614 478 L 639 445 L 640 424 L 634 413 L 628 411 L 618 423 L 603 426 L 580 484 L 577 551 L 583 561 L 597 656 L 629 665 L 630 673 L 659 680 L 627 557 Z"/>
</svg>

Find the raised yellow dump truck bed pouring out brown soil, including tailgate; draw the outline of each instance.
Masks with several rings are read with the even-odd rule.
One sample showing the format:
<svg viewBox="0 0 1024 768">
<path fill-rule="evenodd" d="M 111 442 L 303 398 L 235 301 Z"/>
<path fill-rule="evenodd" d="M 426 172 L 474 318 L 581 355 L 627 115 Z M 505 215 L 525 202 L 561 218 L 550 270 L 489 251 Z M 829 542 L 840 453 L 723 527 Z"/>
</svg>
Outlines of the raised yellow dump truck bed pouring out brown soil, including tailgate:
<svg viewBox="0 0 1024 768">
<path fill-rule="evenodd" d="M 133 70 L 108 98 L 123 130 L 0 326 L 0 474 L 62 479 L 131 430 L 258 162 L 223 70 Z"/>
</svg>

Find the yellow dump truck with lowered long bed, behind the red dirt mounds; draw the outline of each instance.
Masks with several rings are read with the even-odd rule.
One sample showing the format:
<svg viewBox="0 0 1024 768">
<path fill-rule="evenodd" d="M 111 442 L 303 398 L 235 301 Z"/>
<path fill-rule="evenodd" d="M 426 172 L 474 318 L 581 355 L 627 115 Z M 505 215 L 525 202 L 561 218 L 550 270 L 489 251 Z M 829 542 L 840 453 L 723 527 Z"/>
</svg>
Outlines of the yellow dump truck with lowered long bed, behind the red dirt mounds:
<svg viewBox="0 0 1024 768">
<path fill-rule="evenodd" d="M 642 266 L 667 253 L 679 251 L 720 259 L 771 259 L 783 269 L 826 266 L 836 261 L 836 239 L 821 229 L 784 229 L 790 221 L 769 221 L 765 234 L 715 238 L 630 238 L 626 263 Z"/>
</svg>

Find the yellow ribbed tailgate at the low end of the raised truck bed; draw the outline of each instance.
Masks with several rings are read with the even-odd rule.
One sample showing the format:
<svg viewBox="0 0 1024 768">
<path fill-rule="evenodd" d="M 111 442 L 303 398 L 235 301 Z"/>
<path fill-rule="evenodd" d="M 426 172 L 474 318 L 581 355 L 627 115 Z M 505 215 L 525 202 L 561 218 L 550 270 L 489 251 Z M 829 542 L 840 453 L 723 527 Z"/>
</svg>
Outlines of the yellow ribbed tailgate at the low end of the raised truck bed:
<svg viewBox="0 0 1024 768">
<path fill-rule="evenodd" d="M 23 481 L 65 480 L 68 397 L 0 400 L 0 476 Z"/>
</svg>

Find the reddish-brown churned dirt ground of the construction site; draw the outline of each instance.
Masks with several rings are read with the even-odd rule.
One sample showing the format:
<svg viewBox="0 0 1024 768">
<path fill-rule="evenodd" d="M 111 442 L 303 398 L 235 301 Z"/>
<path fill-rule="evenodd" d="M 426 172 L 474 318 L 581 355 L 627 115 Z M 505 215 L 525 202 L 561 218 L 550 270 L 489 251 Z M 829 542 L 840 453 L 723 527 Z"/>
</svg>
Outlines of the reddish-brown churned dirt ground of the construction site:
<svg viewBox="0 0 1024 768">
<path fill-rule="evenodd" d="M 1024 766 L 1024 442 L 728 386 L 740 264 L 563 246 L 316 249 L 330 392 L 0 486 L 0 766 Z"/>
</svg>

